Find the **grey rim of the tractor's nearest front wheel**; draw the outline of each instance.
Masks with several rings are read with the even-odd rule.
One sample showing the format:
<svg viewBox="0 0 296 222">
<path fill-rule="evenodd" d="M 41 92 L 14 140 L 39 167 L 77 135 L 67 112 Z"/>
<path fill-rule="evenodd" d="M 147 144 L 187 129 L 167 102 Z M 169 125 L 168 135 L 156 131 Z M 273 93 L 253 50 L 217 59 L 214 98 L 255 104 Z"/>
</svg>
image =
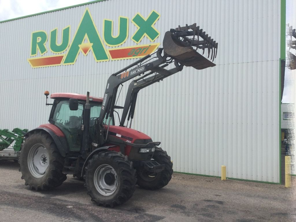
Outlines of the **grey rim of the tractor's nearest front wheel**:
<svg viewBox="0 0 296 222">
<path fill-rule="evenodd" d="M 118 186 L 117 173 L 110 165 L 103 164 L 96 168 L 94 173 L 94 186 L 103 196 L 113 194 Z"/>
</svg>

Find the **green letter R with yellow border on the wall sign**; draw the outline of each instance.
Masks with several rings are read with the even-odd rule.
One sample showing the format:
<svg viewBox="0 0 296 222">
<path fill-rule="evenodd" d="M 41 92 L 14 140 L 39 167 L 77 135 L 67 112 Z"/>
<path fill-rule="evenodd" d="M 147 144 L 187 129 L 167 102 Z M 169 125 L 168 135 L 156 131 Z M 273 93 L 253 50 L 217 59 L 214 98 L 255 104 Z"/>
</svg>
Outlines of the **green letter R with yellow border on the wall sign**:
<svg viewBox="0 0 296 222">
<path fill-rule="evenodd" d="M 36 31 L 32 33 L 31 56 L 37 55 L 37 49 L 43 55 L 47 52 L 45 43 L 47 41 L 47 33 L 45 31 Z"/>
</svg>

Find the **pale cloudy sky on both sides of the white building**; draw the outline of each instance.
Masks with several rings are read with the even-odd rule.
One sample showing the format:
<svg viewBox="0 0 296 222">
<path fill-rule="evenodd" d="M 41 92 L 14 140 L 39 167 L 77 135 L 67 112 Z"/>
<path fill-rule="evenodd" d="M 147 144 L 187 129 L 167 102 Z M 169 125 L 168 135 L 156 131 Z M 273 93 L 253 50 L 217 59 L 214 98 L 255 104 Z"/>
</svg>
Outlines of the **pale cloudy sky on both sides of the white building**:
<svg viewBox="0 0 296 222">
<path fill-rule="evenodd" d="M 40 12 L 45 12 L 53 9 L 59 9 L 63 7 L 73 6 L 77 4 L 87 3 L 92 0 L 0 0 L 0 21 L 22 17 L 26 15 L 32 15 Z M 287 22 L 291 17 L 292 12 L 289 8 L 289 4 L 293 0 L 286 0 L 287 4 Z M 292 22 L 293 23 L 293 22 Z M 293 25 L 295 28 L 296 24 Z M 294 102 L 293 87 L 289 86 L 289 70 L 286 68 L 287 77 L 285 78 L 283 103 Z"/>
</svg>

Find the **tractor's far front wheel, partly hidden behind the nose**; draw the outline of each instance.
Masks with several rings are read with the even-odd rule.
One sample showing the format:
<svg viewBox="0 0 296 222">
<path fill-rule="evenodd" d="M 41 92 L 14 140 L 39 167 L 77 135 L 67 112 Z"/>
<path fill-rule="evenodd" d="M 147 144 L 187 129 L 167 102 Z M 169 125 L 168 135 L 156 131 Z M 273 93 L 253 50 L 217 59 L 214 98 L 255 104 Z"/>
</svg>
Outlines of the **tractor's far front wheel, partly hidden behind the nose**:
<svg viewBox="0 0 296 222">
<path fill-rule="evenodd" d="M 173 163 L 170 156 L 160 147 L 155 148 L 153 157 L 159 164 L 164 164 L 165 168 L 159 173 L 151 173 L 145 169 L 137 169 L 137 184 L 149 190 L 160 189 L 168 184 L 173 174 Z"/>
</svg>

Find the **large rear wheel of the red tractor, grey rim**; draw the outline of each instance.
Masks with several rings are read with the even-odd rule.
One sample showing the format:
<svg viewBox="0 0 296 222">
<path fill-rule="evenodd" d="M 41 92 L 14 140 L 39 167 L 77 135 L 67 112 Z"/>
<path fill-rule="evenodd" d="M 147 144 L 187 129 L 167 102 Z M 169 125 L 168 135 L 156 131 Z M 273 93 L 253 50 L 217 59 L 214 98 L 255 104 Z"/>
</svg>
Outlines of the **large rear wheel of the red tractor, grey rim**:
<svg viewBox="0 0 296 222">
<path fill-rule="evenodd" d="M 19 163 L 22 179 L 25 179 L 25 185 L 29 185 L 30 189 L 52 189 L 67 179 L 62 173 L 64 157 L 46 132 L 34 131 L 25 137 Z"/>
</svg>

